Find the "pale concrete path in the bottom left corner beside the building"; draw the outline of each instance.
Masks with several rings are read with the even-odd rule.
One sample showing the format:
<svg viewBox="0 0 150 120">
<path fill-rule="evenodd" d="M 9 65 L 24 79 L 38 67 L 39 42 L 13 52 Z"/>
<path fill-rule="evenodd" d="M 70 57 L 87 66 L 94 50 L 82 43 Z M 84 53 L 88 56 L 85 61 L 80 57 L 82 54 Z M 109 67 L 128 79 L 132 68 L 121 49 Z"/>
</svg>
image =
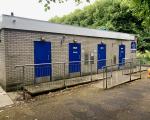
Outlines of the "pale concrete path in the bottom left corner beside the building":
<svg viewBox="0 0 150 120">
<path fill-rule="evenodd" d="M 0 87 L 0 108 L 12 104 L 13 101 L 10 99 L 7 93 Z"/>
</svg>

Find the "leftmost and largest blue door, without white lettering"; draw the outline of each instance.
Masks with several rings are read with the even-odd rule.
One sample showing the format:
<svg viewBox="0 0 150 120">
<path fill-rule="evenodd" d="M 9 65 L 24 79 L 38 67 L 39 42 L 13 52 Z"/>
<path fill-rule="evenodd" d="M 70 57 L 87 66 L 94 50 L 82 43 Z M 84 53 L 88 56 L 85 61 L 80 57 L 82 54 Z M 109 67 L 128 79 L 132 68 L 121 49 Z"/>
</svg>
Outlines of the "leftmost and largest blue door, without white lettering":
<svg viewBox="0 0 150 120">
<path fill-rule="evenodd" d="M 34 64 L 35 77 L 51 76 L 51 43 L 44 41 L 34 41 Z M 45 64 L 47 63 L 47 64 Z"/>
</svg>

